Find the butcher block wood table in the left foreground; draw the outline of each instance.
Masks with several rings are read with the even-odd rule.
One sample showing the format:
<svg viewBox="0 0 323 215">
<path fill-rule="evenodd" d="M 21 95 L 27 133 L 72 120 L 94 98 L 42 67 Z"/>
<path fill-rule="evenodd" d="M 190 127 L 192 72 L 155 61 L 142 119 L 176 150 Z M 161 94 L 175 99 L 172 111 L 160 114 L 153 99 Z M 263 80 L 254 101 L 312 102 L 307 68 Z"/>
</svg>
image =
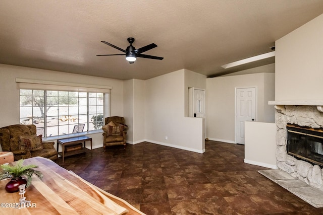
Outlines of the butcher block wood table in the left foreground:
<svg viewBox="0 0 323 215">
<path fill-rule="evenodd" d="M 13 162 L 12 164 L 14 164 Z M 24 160 L 24 165 L 37 165 L 43 174 L 35 175 L 26 188 L 25 197 L 30 203 L 15 208 L 19 191 L 5 190 L 10 179 L 0 181 L 0 214 L 144 214 L 125 200 L 118 198 L 80 178 L 55 162 L 35 157 Z"/>
</svg>

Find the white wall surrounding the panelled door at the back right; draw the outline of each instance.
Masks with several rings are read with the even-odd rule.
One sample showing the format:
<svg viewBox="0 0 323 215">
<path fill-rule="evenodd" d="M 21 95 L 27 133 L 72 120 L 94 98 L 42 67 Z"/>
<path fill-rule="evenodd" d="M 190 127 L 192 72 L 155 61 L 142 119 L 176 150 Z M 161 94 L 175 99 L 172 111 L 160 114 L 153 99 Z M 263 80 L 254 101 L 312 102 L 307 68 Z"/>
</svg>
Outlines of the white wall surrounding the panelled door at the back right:
<svg viewBox="0 0 323 215">
<path fill-rule="evenodd" d="M 256 121 L 275 122 L 275 74 L 259 73 L 206 80 L 206 137 L 235 143 L 235 88 L 256 87 Z"/>
</svg>

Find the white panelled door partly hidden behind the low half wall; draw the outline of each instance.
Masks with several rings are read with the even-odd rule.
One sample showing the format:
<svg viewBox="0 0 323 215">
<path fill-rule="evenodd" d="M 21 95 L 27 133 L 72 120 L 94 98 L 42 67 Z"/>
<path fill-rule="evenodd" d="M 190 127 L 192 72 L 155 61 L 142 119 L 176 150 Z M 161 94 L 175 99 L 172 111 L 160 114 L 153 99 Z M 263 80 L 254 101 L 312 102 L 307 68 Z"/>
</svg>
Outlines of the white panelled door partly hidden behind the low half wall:
<svg viewBox="0 0 323 215">
<path fill-rule="evenodd" d="M 244 144 L 244 122 L 255 121 L 255 88 L 236 90 L 236 142 Z"/>
</svg>

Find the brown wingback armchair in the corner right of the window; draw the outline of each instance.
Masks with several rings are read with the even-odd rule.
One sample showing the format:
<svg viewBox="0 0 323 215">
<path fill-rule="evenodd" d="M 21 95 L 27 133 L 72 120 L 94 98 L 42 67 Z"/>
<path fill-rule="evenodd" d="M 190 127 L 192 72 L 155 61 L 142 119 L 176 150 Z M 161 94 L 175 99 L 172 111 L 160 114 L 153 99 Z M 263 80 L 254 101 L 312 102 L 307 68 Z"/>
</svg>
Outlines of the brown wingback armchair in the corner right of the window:
<svg viewBox="0 0 323 215">
<path fill-rule="evenodd" d="M 105 147 L 124 145 L 126 149 L 126 134 L 128 126 L 125 124 L 125 118 L 121 116 L 112 116 L 105 118 L 105 125 L 102 127 L 103 150 Z"/>
</svg>

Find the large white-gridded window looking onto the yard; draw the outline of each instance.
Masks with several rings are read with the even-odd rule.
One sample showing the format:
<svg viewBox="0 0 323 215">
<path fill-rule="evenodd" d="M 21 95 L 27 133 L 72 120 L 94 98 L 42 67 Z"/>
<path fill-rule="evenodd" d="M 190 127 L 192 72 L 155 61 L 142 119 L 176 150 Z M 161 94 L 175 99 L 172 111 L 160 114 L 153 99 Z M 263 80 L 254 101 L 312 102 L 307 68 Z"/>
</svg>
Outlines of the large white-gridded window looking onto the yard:
<svg viewBox="0 0 323 215">
<path fill-rule="evenodd" d="M 43 136 L 101 129 L 104 98 L 104 93 L 21 89 L 20 123 L 35 124 Z"/>
</svg>

